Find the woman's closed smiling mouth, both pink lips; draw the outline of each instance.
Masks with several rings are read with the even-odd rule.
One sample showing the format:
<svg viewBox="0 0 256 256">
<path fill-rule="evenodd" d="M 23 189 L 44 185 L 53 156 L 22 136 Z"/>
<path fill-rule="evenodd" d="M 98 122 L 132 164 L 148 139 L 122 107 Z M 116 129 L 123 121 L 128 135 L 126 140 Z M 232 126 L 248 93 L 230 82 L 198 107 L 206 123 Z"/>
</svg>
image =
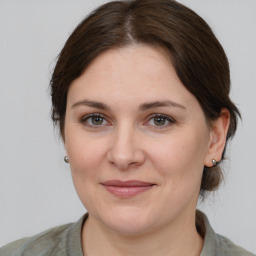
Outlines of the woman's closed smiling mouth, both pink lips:
<svg viewBox="0 0 256 256">
<path fill-rule="evenodd" d="M 133 197 L 153 188 L 156 184 L 139 180 L 108 180 L 101 183 L 107 191 L 118 197 Z"/>
</svg>

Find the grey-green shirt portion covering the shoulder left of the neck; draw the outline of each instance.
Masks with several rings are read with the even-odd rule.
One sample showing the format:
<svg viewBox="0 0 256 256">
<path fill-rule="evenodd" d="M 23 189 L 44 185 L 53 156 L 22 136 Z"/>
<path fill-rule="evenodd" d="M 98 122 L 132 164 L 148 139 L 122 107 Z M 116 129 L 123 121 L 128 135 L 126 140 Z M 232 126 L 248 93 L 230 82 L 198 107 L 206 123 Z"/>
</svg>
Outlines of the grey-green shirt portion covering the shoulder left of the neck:
<svg viewBox="0 0 256 256">
<path fill-rule="evenodd" d="M 22 238 L 0 248 L 0 256 L 66 256 L 73 250 L 80 255 L 80 235 L 84 217 L 76 223 L 48 229 L 38 235 Z"/>
</svg>

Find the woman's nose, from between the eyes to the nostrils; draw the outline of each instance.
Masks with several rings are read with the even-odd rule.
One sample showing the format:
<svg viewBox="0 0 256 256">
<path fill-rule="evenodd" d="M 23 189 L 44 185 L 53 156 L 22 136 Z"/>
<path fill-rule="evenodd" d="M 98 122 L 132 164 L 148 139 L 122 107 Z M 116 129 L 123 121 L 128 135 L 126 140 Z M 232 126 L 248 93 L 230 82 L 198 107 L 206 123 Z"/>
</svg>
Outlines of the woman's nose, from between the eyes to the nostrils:
<svg viewBox="0 0 256 256">
<path fill-rule="evenodd" d="M 117 129 L 107 154 L 108 161 L 120 170 L 137 167 L 145 161 L 139 134 L 128 126 Z"/>
</svg>

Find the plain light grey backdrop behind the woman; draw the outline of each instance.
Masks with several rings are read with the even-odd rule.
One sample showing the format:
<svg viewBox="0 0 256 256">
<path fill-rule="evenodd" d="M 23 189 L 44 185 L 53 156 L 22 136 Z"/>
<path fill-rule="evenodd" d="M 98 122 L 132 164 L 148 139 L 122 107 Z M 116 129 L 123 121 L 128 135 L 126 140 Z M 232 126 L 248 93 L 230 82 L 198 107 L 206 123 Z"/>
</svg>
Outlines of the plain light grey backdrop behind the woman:
<svg viewBox="0 0 256 256">
<path fill-rule="evenodd" d="M 48 84 L 67 37 L 104 2 L 0 0 L 0 246 L 85 212 L 50 120 Z M 180 2 L 209 23 L 226 50 L 231 97 L 243 116 L 225 184 L 198 207 L 216 232 L 256 252 L 256 1 Z"/>
</svg>

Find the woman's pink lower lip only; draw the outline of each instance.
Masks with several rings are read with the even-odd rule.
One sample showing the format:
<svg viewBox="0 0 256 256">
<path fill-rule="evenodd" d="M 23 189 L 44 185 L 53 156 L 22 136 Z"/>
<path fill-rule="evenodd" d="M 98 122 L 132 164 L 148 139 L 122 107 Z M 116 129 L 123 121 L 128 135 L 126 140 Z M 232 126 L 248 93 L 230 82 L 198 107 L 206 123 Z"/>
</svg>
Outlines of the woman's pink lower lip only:
<svg viewBox="0 0 256 256">
<path fill-rule="evenodd" d="M 145 192 L 149 189 L 151 189 L 153 185 L 151 186 L 142 186 L 142 187 L 117 187 L 117 186 L 106 186 L 105 188 L 112 193 L 115 196 L 119 197 L 132 197 L 136 196 L 142 192 Z"/>
</svg>

